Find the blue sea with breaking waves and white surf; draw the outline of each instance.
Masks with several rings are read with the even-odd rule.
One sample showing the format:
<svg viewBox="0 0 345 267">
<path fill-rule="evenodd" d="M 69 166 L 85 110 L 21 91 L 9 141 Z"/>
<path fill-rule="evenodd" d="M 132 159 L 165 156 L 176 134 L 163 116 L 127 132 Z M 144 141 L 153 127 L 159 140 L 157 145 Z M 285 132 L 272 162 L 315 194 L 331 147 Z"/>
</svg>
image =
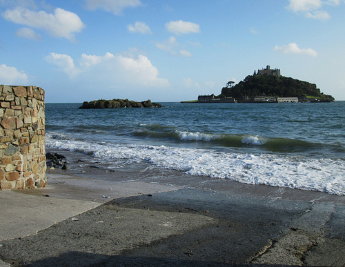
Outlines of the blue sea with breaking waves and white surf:
<svg viewBox="0 0 345 267">
<path fill-rule="evenodd" d="M 46 103 L 46 146 L 246 184 L 345 195 L 345 101 L 161 103 L 79 110 Z"/>
</svg>

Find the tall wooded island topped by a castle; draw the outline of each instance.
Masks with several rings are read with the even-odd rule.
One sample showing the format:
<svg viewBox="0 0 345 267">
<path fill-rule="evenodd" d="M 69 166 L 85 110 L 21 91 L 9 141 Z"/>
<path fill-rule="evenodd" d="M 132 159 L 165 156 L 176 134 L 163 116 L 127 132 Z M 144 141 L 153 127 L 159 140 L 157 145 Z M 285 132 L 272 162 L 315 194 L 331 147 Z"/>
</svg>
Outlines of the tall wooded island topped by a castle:
<svg viewBox="0 0 345 267">
<path fill-rule="evenodd" d="M 279 69 L 266 66 L 254 71 L 235 85 L 228 81 L 220 95 L 199 95 L 197 101 L 182 103 L 279 103 L 279 102 L 332 102 L 316 84 L 280 75 Z"/>
</svg>

